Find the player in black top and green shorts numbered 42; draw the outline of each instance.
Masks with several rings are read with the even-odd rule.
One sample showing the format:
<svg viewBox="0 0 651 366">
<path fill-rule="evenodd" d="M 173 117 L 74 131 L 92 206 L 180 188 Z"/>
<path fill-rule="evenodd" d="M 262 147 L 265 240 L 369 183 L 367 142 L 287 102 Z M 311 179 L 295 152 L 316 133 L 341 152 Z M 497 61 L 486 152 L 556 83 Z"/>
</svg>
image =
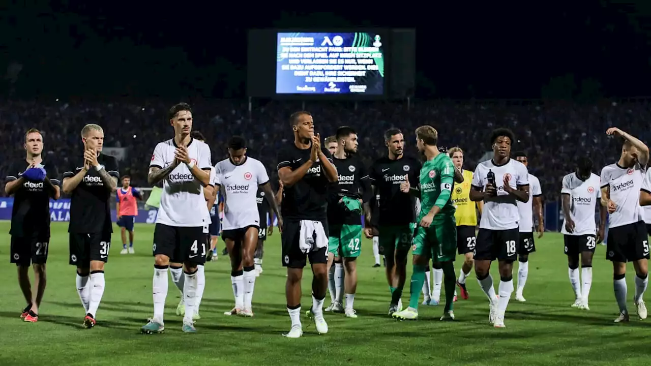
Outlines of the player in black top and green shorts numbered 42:
<svg viewBox="0 0 651 366">
<path fill-rule="evenodd" d="M 337 151 L 332 157 L 339 177 L 337 184 L 331 186 L 328 197 L 327 222 L 330 236 L 328 238 L 328 274 L 329 283 L 335 283 L 335 293 L 330 289 L 331 311 L 342 310 L 343 294 L 346 293 L 344 313 L 348 318 L 357 318 L 353 309 L 355 292 L 357 292 L 357 257 L 361 253 L 362 225 L 359 217 L 363 213 L 363 203 L 372 195 L 367 169 L 357 153 L 357 133 L 348 126 L 337 129 Z M 330 268 L 335 257 L 342 259 L 344 276 L 332 276 Z M 331 286 L 329 286 L 331 287 Z"/>
</svg>

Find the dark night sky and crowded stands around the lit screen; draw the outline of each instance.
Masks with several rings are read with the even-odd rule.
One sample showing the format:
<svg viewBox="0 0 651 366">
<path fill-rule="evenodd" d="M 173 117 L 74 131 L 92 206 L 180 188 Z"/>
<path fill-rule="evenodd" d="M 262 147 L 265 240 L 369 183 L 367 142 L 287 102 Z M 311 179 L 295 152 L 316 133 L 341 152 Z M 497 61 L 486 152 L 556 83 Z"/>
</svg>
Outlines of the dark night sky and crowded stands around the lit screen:
<svg viewBox="0 0 651 366">
<path fill-rule="evenodd" d="M 405 130 L 413 153 L 411 132 L 432 124 L 441 145 L 465 149 L 473 169 L 489 148 L 490 130 L 506 126 L 519 139 L 514 149 L 529 152 L 547 201 L 559 196 L 576 156 L 589 154 L 596 169 L 615 160 L 608 126 L 649 140 L 651 6 L 643 1 L 391 12 L 389 5 L 337 12 L 232 5 L 3 5 L 0 172 L 22 158 L 27 128 L 44 130 L 48 157 L 66 166 L 81 155 L 81 127 L 96 122 L 105 128 L 105 146 L 128 148 L 121 173 L 146 186 L 153 147 L 171 137 L 165 110 L 180 100 L 193 105 L 195 130 L 206 135 L 213 160 L 224 157 L 231 135 L 242 134 L 271 173 L 275 151 L 291 138 L 288 115 L 303 107 L 322 136 L 342 124 L 357 128 L 368 163 L 383 153 L 386 128 Z M 247 29 L 312 27 L 415 28 L 413 98 L 253 99 L 249 111 Z"/>
</svg>

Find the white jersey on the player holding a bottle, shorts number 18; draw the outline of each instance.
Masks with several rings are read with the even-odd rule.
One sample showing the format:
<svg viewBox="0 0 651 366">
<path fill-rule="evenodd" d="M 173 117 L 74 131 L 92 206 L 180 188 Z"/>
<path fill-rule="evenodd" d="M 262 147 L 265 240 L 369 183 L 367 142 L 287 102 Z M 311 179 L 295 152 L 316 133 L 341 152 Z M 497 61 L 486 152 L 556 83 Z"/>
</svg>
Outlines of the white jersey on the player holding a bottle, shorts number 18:
<svg viewBox="0 0 651 366">
<path fill-rule="evenodd" d="M 486 160 L 477 165 L 473 174 L 472 185 L 477 188 L 486 189 L 488 184 L 488 172 L 495 174 L 495 190 L 497 197 L 491 201 L 484 201 L 482 219 L 479 222 L 480 229 L 509 230 L 519 227 L 520 215 L 516 197 L 509 195 L 504 190 L 504 177 L 509 176 L 508 185 L 513 189 L 518 186 L 529 185 L 529 172 L 521 162 L 509 159 L 505 165 L 495 165 L 493 160 Z"/>
</svg>

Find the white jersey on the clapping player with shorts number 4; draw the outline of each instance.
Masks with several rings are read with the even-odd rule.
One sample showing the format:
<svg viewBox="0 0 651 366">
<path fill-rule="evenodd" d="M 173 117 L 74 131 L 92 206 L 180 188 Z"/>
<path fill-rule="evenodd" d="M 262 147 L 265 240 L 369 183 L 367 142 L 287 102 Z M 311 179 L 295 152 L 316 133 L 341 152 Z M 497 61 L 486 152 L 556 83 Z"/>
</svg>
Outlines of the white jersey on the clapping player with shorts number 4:
<svg viewBox="0 0 651 366">
<path fill-rule="evenodd" d="M 156 145 L 150 167 L 164 169 L 174 162 L 176 143 L 174 139 Z M 191 139 L 187 145 L 190 160 L 201 169 L 210 169 L 210 147 L 201 141 Z M 173 227 L 204 226 L 208 218 L 208 207 L 203 186 L 186 164 L 180 163 L 163 180 L 161 203 L 156 223 Z"/>
</svg>

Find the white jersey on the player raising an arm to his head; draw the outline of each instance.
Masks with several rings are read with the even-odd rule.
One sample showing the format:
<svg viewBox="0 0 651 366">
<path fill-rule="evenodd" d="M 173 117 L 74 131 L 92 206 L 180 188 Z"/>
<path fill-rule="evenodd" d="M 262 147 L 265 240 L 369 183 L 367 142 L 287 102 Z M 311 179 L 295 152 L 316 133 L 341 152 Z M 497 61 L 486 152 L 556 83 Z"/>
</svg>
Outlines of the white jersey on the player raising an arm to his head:
<svg viewBox="0 0 651 366">
<path fill-rule="evenodd" d="M 640 188 L 644 180 L 644 168 L 635 164 L 632 168 L 606 165 L 602 169 L 602 188 L 610 188 L 610 199 L 615 202 L 615 212 L 609 214 L 609 227 L 619 227 L 643 221 L 640 207 Z"/>
</svg>

